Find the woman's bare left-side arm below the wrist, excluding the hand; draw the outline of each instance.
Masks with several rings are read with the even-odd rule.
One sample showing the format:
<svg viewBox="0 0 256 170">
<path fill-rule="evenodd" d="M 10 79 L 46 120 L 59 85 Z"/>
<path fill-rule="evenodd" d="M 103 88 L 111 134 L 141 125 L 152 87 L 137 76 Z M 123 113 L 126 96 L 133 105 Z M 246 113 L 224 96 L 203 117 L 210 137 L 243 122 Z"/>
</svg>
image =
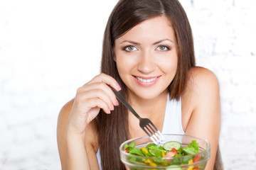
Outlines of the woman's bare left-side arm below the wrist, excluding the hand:
<svg viewBox="0 0 256 170">
<path fill-rule="evenodd" d="M 72 106 L 73 101 L 68 102 L 63 106 L 58 116 L 57 141 L 61 167 L 63 170 L 99 169 L 95 155 L 97 147 L 93 145 L 97 141 L 95 121 L 87 126 L 86 137 L 83 135 L 68 135 L 65 132 Z"/>
</svg>

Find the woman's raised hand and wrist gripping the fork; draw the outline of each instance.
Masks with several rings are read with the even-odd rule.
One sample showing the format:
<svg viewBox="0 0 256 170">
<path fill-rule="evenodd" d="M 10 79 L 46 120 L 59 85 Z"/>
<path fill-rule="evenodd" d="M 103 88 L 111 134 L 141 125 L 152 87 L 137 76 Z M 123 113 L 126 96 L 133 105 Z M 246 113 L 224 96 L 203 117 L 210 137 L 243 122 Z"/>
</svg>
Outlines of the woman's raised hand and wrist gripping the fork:
<svg viewBox="0 0 256 170">
<path fill-rule="evenodd" d="M 86 126 L 97 116 L 100 108 L 107 114 L 114 110 L 118 101 L 110 87 L 117 91 L 121 89 L 115 79 L 107 74 L 99 74 L 78 88 L 70 111 L 66 135 L 84 135 Z"/>
</svg>

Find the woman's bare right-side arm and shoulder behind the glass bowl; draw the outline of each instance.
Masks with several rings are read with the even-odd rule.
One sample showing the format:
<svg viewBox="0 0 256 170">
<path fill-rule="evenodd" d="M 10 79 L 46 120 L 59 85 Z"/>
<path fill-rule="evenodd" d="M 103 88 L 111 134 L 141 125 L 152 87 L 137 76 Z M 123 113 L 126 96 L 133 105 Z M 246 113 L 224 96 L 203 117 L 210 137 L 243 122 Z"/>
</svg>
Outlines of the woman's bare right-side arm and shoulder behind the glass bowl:
<svg viewBox="0 0 256 170">
<path fill-rule="evenodd" d="M 202 67 L 191 70 L 188 97 L 193 103 L 186 134 L 201 137 L 210 142 L 210 159 L 206 170 L 212 170 L 220 135 L 220 90 L 213 72 Z"/>
</svg>

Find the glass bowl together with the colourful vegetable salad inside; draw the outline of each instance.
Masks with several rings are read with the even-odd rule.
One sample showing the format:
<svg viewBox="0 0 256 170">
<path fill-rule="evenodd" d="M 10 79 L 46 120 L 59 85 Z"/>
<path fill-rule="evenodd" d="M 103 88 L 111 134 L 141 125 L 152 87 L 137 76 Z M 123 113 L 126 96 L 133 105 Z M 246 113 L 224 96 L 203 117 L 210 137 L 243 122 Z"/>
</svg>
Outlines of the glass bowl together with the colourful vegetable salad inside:
<svg viewBox="0 0 256 170">
<path fill-rule="evenodd" d="M 127 169 L 203 170 L 210 158 L 210 143 L 189 135 L 164 135 L 158 145 L 148 136 L 123 142 L 121 161 Z"/>
</svg>

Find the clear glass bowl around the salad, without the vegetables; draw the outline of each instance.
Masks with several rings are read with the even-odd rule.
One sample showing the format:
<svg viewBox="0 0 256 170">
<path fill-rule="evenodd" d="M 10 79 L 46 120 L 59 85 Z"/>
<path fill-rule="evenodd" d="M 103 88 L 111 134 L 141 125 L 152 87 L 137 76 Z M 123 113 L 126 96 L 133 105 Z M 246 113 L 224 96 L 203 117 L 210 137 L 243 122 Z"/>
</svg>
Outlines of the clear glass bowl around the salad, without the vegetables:
<svg viewBox="0 0 256 170">
<path fill-rule="evenodd" d="M 193 137 L 189 135 L 175 135 L 175 134 L 166 134 L 164 136 L 164 141 L 159 143 L 159 145 L 164 145 L 165 142 L 177 141 L 181 143 L 181 147 L 187 147 L 192 140 L 196 140 L 199 145 L 199 152 L 197 154 L 186 155 L 182 157 L 139 157 L 137 155 L 129 154 L 124 150 L 124 145 L 135 142 L 137 148 L 146 147 L 149 143 L 152 143 L 148 136 L 137 137 L 132 140 L 127 140 L 122 143 L 119 147 L 121 161 L 124 163 L 126 169 L 131 170 L 142 170 L 142 169 L 165 169 L 165 170 L 203 170 L 206 167 L 206 163 L 210 158 L 210 143 L 207 140 L 203 140 L 198 137 Z M 201 156 L 200 161 L 198 162 L 189 162 L 188 160 L 194 159 L 198 156 Z M 151 162 L 169 162 L 161 166 L 150 166 L 149 164 L 144 164 L 145 160 Z"/>
</svg>

